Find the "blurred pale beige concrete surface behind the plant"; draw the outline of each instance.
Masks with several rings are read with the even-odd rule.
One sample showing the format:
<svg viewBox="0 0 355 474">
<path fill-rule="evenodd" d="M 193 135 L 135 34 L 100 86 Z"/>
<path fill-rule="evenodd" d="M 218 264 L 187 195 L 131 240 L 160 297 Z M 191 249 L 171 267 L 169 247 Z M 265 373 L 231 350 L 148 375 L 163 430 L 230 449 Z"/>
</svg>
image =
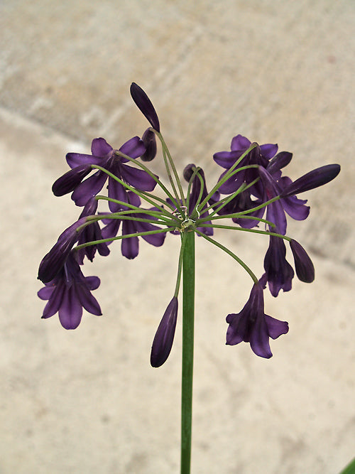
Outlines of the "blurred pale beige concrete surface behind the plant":
<svg viewBox="0 0 355 474">
<path fill-rule="evenodd" d="M 354 457 L 354 18 L 345 0 L 0 2 L 1 474 L 178 472 L 181 318 L 168 362 L 149 365 L 177 238 L 86 264 L 104 316 L 75 331 L 41 321 L 36 297 L 40 259 L 79 213 L 50 191 L 65 153 L 146 129 L 132 81 L 178 169 L 195 162 L 207 183 L 238 133 L 293 151 L 291 178 L 342 165 L 289 225 L 316 280 L 266 298 L 290 324 L 271 360 L 224 345 L 251 284 L 198 239 L 192 473 L 333 474 Z M 216 235 L 261 274 L 267 239 Z"/>
</svg>

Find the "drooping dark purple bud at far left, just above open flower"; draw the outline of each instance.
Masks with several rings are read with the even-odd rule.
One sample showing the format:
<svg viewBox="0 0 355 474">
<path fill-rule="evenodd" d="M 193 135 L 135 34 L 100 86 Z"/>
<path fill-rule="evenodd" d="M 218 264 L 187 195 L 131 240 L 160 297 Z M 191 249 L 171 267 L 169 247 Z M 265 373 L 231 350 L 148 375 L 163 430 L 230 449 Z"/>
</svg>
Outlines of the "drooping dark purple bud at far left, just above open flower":
<svg viewBox="0 0 355 474">
<path fill-rule="evenodd" d="M 82 217 L 65 229 L 58 237 L 58 242 L 50 249 L 50 252 L 43 257 L 38 269 L 38 279 L 43 281 L 43 283 L 48 283 L 48 281 L 53 280 L 55 275 L 62 269 L 73 245 L 79 238 L 77 228 L 84 224 L 84 222 L 86 222 L 86 217 Z"/>
</svg>

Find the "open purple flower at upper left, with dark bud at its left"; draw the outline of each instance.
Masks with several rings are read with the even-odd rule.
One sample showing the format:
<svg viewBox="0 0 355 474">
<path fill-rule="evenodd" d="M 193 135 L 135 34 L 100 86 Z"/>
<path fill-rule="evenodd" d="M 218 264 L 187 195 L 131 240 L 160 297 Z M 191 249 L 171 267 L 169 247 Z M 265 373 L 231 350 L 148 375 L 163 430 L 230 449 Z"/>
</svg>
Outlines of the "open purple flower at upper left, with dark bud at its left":
<svg viewBox="0 0 355 474">
<path fill-rule="evenodd" d="M 144 191 L 152 191 L 155 188 L 156 181 L 146 171 L 133 168 L 133 166 L 126 165 L 127 158 L 117 156 L 114 150 L 106 140 L 103 138 L 94 139 L 92 141 L 92 155 L 82 153 L 67 153 L 67 163 L 72 168 L 71 171 L 65 173 L 64 176 L 58 178 L 53 184 L 53 192 L 62 195 L 65 192 L 72 193 L 72 200 L 78 206 L 83 206 L 87 201 L 97 195 L 102 190 L 104 183 L 107 181 L 107 173 L 104 171 L 97 171 L 94 175 L 89 176 L 84 181 L 80 181 L 80 177 L 85 176 L 87 166 L 98 165 L 110 171 L 114 176 L 120 178 L 125 183 L 130 184 L 133 188 Z M 146 147 L 143 141 L 134 136 L 119 149 L 122 153 L 131 158 L 138 158 L 146 152 Z M 74 189 L 75 188 L 75 189 Z M 109 197 L 121 200 L 126 188 L 121 183 L 118 183 L 114 178 L 109 177 Z M 116 203 L 109 203 L 109 208 L 112 212 L 119 210 L 119 205 Z"/>
</svg>

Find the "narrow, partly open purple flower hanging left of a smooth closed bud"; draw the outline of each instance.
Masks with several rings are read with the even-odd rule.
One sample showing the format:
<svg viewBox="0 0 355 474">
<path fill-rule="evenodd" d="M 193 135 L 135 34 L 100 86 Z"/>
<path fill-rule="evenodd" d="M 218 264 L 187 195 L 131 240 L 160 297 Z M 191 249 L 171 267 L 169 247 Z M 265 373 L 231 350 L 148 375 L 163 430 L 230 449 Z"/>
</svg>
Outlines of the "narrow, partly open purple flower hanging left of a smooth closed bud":
<svg viewBox="0 0 355 474">
<path fill-rule="evenodd" d="M 278 296 L 280 289 L 290 291 L 295 272 L 286 260 L 286 247 L 280 237 L 270 236 L 268 251 L 264 259 L 264 269 L 268 287 L 273 296 Z"/>
</svg>

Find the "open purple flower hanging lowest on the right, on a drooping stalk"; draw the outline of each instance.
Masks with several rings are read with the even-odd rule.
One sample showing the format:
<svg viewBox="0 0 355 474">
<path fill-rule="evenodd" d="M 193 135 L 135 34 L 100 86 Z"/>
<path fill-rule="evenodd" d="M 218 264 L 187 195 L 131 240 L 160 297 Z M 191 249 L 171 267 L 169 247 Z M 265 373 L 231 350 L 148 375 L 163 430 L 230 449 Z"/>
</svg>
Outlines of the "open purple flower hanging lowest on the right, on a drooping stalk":
<svg viewBox="0 0 355 474">
<path fill-rule="evenodd" d="M 257 284 L 253 285 L 249 300 L 237 314 L 229 314 L 226 322 L 229 328 L 226 332 L 226 344 L 236 345 L 244 341 L 250 343 L 251 350 L 269 359 L 272 357 L 269 338 L 276 339 L 281 334 L 288 333 L 288 323 L 279 321 L 264 313 L 263 289 L 266 276 L 263 275 Z"/>
</svg>

